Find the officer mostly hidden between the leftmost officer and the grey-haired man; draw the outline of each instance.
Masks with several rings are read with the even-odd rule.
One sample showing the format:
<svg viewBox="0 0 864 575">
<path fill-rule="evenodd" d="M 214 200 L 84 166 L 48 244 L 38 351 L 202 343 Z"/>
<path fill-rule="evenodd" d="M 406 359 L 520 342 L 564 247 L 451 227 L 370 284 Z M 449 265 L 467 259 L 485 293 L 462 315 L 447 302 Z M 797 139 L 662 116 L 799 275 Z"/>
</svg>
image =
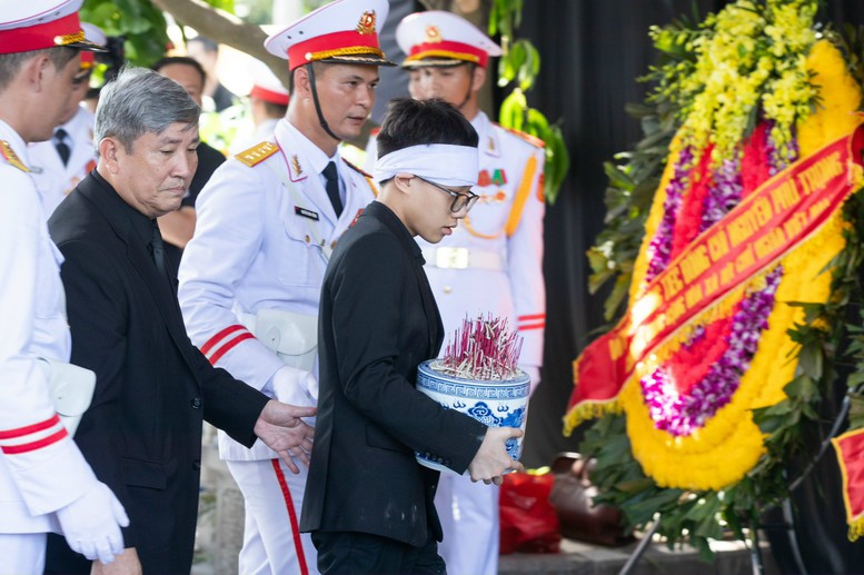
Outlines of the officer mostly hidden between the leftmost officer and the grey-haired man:
<svg viewBox="0 0 864 575">
<path fill-rule="evenodd" d="M 108 41 L 105 32 L 89 22 L 81 22 L 81 29 L 90 42 L 105 46 Z M 60 126 L 54 129 L 50 140 L 30 145 L 31 174 L 42 198 L 46 218 L 50 217 L 66 195 L 96 168 L 95 118 L 90 110 L 81 106 L 90 87 L 90 75 L 95 65 L 93 52 L 81 52 L 81 69 L 75 78 L 72 96 L 64 102 L 66 113 L 60 119 Z M 63 147 L 68 153 L 66 161 L 60 151 Z"/>
</svg>

